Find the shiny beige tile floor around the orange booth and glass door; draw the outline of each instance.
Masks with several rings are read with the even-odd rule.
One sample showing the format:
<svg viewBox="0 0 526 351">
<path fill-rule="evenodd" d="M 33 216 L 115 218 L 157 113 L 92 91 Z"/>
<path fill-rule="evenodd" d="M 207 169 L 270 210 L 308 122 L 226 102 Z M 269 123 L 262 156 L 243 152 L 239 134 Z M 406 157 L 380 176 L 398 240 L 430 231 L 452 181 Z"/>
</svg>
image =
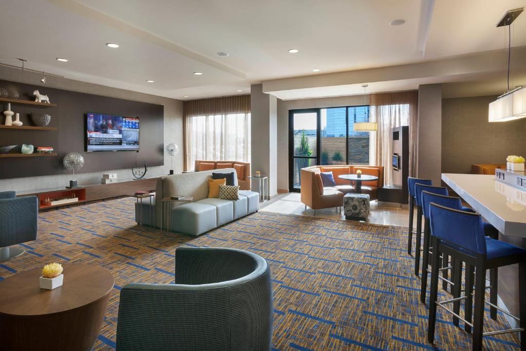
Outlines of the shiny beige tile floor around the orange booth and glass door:
<svg viewBox="0 0 526 351">
<path fill-rule="evenodd" d="M 261 204 L 260 210 L 264 212 L 274 212 L 280 214 L 345 219 L 345 215 L 343 215 L 343 208 L 341 213 L 339 213 L 335 208 L 317 209 L 315 216 L 311 208 L 307 207 L 307 209 L 305 209 L 305 205 L 301 203 L 299 193 L 279 194 L 276 198 L 266 202 L 265 204 Z M 414 216 L 416 217 L 416 213 Z M 366 222 L 407 227 L 409 223 L 409 210 L 396 207 L 386 207 L 383 205 L 379 206 L 376 200 L 371 201 L 371 212 Z"/>
</svg>

